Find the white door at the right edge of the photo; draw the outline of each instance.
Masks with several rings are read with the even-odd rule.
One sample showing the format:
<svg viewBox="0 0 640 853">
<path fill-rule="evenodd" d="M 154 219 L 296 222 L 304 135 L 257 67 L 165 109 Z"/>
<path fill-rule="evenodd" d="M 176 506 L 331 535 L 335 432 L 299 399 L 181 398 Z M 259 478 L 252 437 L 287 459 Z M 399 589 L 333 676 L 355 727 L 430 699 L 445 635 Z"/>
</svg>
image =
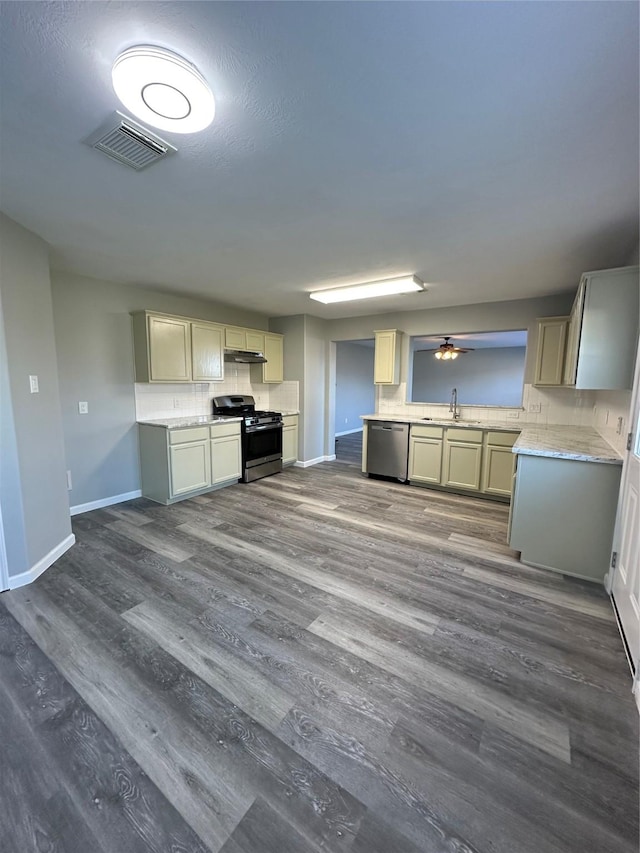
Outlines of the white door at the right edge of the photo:
<svg viewBox="0 0 640 853">
<path fill-rule="evenodd" d="M 622 472 L 616 519 L 611 594 L 615 601 L 627 647 L 635 667 L 634 692 L 640 707 L 640 353 L 636 364 L 631 405 L 631 448 Z"/>
</svg>

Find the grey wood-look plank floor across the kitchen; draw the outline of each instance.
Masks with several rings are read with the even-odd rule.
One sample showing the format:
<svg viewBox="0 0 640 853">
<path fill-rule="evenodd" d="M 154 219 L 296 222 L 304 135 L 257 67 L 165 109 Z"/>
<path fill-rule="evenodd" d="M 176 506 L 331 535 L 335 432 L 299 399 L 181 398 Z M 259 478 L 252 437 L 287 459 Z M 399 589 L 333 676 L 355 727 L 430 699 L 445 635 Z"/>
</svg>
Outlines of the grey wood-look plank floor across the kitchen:
<svg viewBox="0 0 640 853">
<path fill-rule="evenodd" d="M 3 853 L 635 853 L 604 592 L 338 458 L 74 519 L 0 598 Z"/>
</svg>

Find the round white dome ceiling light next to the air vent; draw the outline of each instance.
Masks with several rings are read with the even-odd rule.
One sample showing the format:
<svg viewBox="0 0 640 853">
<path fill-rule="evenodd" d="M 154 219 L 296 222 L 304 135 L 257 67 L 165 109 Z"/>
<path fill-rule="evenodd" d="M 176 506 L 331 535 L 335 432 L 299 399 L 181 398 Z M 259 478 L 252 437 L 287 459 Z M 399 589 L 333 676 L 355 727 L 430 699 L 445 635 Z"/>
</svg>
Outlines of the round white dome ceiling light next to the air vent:
<svg viewBox="0 0 640 853">
<path fill-rule="evenodd" d="M 173 133 L 195 133 L 213 121 L 211 89 L 198 69 L 161 47 L 131 47 L 113 63 L 116 95 L 137 118 Z"/>
</svg>

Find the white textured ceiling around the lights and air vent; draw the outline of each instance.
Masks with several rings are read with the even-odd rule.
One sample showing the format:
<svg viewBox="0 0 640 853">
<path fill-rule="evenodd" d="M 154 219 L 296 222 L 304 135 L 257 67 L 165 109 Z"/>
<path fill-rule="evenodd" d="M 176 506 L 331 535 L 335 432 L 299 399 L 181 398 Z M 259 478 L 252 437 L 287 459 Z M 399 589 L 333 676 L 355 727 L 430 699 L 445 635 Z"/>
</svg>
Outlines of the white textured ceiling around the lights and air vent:
<svg viewBox="0 0 640 853">
<path fill-rule="evenodd" d="M 566 291 L 638 239 L 638 4 L 4 2 L 2 209 L 55 268 L 343 317 Z M 140 173 L 81 144 L 151 43 L 217 115 Z M 162 134 L 161 134 L 162 135 Z M 416 273 L 426 294 L 308 291 Z"/>
</svg>

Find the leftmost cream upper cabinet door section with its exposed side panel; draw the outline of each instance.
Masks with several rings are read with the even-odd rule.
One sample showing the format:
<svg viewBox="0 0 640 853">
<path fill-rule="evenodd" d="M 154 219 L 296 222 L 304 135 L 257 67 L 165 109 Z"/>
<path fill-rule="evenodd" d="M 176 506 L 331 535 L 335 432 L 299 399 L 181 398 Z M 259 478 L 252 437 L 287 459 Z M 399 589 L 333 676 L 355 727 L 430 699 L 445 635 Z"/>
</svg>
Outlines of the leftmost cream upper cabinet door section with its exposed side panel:
<svg viewBox="0 0 640 853">
<path fill-rule="evenodd" d="M 133 315 L 136 382 L 191 382 L 191 323 L 180 317 Z"/>
</svg>

